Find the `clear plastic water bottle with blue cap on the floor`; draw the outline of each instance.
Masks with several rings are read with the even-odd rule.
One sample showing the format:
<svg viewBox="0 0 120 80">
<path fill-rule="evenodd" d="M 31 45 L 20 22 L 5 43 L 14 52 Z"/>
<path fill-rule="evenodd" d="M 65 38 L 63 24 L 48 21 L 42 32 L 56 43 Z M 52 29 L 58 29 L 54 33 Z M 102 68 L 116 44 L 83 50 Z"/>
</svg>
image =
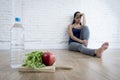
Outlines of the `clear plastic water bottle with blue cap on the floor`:
<svg viewBox="0 0 120 80">
<path fill-rule="evenodd" d="M 22 65 L 24 54 L 24 28 L 20 18 L 15 18 L 11 28 L 11 67 L 18 68 Z"/>
</svg>

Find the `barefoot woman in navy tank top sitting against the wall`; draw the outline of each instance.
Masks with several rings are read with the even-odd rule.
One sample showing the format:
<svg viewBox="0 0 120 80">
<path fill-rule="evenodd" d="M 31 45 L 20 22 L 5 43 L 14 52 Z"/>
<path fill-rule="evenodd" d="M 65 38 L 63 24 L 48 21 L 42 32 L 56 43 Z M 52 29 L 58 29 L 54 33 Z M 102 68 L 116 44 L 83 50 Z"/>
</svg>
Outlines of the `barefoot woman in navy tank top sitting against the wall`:
<svg viewBox="0 0 120 80">
<path fill-rule="evenodd" d="M 108 42 L 105 42 L 98 49 L 87 48 L 89 39 L 89 29 L 87 26 L 85 26 L 85 24 L 85 14 L 75 12 L 73 22 L 68 26 L 68 34 L 70 37 L 69 50 L 79 51 L 83 54 L 101 58 L 103 51 L 105 51 L 108 48 L 109 44 Z"/>
</svg>

